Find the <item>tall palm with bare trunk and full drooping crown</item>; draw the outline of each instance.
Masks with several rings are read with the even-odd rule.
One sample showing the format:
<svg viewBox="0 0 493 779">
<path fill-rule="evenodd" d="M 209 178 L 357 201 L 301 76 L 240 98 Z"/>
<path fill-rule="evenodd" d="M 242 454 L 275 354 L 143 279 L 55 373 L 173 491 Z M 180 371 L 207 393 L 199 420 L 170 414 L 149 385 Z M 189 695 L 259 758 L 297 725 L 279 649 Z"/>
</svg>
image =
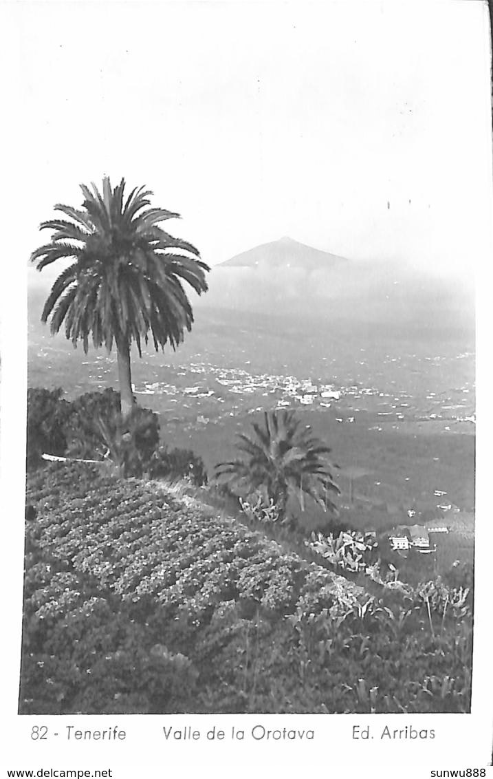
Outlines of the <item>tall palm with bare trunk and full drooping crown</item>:
<svg viewBox="0 0 493 779">
<path fill-rule="evenodd" d="M 116 346 L 121 416 L 128 417 L 135 399 L 132 393 L 130 347 L 135 341 L 142 357 L 142 341 L 149 334 L 156 351 L 169 343 L 175 349 L 192 329 L 192 306 L 183 282 L 197 294 L 207 290 L 209 267 L 199 259 L 195 246 L 173 238 L 160 226 L 179 218 L 150 207 L 153 193 L 132 189 L 124 199 L 125 179 L 111 188 L 103 179 L 102 193 L 80 185 L 81 209 L 58 203 L 62 217 L 40 224 L 51 230 L 51 241 L 31 255 L 37 270 L 57 260 L 69 259 L 44 304 L 41 321 L 51 315 L 51 333 L 65 323 L 65 334 L 74 347 L 82 341 L 87 352 L 90 337 L 95 347 L 111 351 Z"/>
</svg>

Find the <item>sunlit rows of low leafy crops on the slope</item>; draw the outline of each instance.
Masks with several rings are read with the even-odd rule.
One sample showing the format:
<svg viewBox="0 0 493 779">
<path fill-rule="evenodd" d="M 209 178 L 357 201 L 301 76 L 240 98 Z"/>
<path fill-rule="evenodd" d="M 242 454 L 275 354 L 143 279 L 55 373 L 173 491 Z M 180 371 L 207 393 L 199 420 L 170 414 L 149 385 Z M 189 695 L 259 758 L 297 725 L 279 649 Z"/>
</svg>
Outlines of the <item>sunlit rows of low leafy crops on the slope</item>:
<svg viewBox="0 0 493 779">
<path fill-rule="evenodd" d="M 66 479 L 62 486 L 69 490 Z M 239 523 L 204 517 L 185 506 L 176 510 L 143 482 L 100 478 L 85 497 L 58 494 L 65 496 L 54 510 L 43 500 L 34 503 L 39 484 L 28 489 L 37 508 L 30 527 L 33 542 L 40 552 L 69 562 L 74 573 L 93 576 L 124 601 L 152 596 L 168 608 L 199 614 L 228 598 L 283 612 L 304 597 L 314 566 Z M 321 602 L 333 606 L 336 577 L 319 569 L 319 578 L 325 587 Z M 347 601 L 358 595 L 348 583 Z"/>
</svg>

